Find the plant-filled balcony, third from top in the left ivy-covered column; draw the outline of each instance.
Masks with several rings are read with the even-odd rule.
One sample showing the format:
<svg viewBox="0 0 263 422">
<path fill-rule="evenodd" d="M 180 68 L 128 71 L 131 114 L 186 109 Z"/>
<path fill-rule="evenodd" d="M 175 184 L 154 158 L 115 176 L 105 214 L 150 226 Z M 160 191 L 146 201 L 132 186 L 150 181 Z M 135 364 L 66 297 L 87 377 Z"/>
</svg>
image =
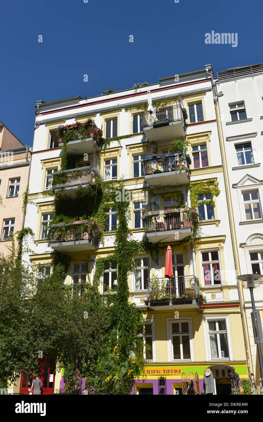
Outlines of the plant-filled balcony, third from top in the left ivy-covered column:
<svg viewBox="0 0 263 422">
<path fill-rule="evenodd" d="M 50 246 L 57 252 L 90 251 L 99 247 L 100 227 L 91 220 L 49 226 Z"/>
</svg>

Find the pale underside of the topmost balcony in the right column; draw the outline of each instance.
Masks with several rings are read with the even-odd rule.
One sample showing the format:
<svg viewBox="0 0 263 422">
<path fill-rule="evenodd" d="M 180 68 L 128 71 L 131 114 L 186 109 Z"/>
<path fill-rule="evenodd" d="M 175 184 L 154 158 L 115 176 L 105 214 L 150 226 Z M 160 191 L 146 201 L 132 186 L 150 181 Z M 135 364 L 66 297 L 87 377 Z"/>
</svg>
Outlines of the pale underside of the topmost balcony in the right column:
<svg viewBox="0 0 263 422">
<path fill-rule="evenodd" d="M 150 142 L 171 141 L 172 139 L 185 136 L 185 129 L 182 121 L 170 122 L 167 126 L 154 127 L 153 125 L 143 128 L 144 133 Z"/>
</svg>

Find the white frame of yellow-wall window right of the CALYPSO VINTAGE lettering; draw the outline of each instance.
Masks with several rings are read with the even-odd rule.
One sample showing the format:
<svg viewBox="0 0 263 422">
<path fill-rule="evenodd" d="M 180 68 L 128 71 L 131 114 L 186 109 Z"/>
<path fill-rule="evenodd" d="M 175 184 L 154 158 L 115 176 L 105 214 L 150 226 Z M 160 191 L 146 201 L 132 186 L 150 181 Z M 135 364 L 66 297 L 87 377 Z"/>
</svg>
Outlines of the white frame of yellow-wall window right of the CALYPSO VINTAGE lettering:
<svg viewBox="0 0 263 422">
<path fill-rule="evenodd" d="M 227 338 L 228 338 L 229 358 L 228 357 L 222 357 L 222 358 L 216 358 L 216 359 L 211 358 L 208 321 L 218 321 L 218 320 L 225 320 Z M 234 359 L 234 354 L 233 354 L 233 345 L 232 345 L 230 315 L 206 315 L 206 316 L 203 316 L 203 326 L 204 326 L 204 344 L 205 344 L 205 352 L 206 352 L 207 362 L 211 362 L 211 361 L 212 362 L 224 362 L 225 360 L 232 361 Z"/>
</svg>

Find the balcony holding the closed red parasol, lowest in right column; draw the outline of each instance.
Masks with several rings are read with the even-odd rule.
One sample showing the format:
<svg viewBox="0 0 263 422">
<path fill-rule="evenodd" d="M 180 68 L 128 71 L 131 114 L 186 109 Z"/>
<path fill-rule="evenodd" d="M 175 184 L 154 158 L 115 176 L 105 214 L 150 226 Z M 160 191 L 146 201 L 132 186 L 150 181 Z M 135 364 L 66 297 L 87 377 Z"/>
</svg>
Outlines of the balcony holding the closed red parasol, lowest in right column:
<svg viewBox="0 0 263 422">
<path fill-rule="evenodd" d="M 195 276 L 148 279 L 148 306 L 157 311 L 200 308 L 199 282 Z"/>
</svg>

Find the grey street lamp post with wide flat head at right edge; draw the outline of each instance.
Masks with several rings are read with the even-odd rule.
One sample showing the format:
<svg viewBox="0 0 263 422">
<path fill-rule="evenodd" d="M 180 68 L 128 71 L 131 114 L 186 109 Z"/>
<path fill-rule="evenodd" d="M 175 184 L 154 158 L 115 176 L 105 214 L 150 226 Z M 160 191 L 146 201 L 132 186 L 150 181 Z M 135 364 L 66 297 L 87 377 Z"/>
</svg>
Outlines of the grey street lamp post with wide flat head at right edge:
<svg viewBox="0 0 263 422">
<path fill-rule="evenodd" d="M 256 314 L 256 308 L 255 308 L 253 289 L 257 289 L 258 287 L 260 287 L 259 281 L 262 278 L 263 276 L 261 274 L 244 274 L 244 276 L 236 277 L 237 280 L 242 281 L 242 287 L 244 287 L 244 289 L 250 289 L 252 311 L 254 315 Z M 256 317 L 255 317 L 255 329 L 257 330 L 257 333 L 259 333 L 258 320 Z M 262 359 L 262 352 L 261 352 L 261 346 L 260 346 L 259 341 L 257 342 L 257 349 L 258 349 L 258 362 L 259 362 L 259 368 L 260 368 L 261 387 L 262 387 L 263 386 L 263 359 Z"/>
</svg>

